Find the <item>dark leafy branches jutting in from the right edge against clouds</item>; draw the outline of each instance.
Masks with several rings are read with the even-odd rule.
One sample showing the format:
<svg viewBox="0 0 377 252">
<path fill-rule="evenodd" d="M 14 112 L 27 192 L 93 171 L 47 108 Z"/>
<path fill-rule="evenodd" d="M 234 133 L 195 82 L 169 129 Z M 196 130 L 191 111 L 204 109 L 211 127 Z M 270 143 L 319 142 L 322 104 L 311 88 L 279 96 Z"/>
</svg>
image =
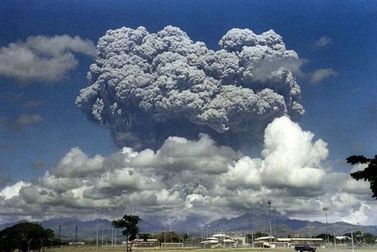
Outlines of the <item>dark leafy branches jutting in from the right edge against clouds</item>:
<svg viewBox="0 0 377 252">
<path fill-rule="evenodd" d="M 377 198 L 377 155 L 374 156 L 374 159 L 368 159 L 364 156 L 350 156 L 347 159 L 347 163 L 351 165 L 356 165 L 358 163 L 367 164 L 367 167 L 364 170 L 358 172 L 352 172 L 351 176 L 356 181 L 363 179 L 370 183 L 370 189 L 372 190 L 372 197 Z"/>
</svg>

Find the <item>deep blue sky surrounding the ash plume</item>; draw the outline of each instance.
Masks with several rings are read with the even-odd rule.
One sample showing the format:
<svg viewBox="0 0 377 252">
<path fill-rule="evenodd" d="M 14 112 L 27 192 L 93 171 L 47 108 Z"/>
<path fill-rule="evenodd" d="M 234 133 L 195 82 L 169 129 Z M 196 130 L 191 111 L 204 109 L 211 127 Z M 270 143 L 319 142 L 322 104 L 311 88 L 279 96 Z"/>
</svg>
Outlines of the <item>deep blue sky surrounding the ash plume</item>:
<svg viewBox="0 0 377 252">
<path fill-rule="evenodd" d="M 298 78 L 306 110 L 300 126 L 328 143 L 327 161 L 345 172 L 350 167 L 341 162 L 350 154 L 376 154 L 376 1 L 1 1 L 0 23 L 0 47 L 62 34 L 96 44 L 109 29 L 142 25 L 158 32 L 174 25 L 193 41 L 218 49 L 233 27 L 256 34 L 273 29 L 306 59 L 304 72 L 336 72 L 318 83 Z M 22 114 L 42 117 L 18 132 L 0 126 L 0 163 L 14 182 L 42 176 L 75 146 L 90 157 L 118 149 L 108 130 L 88 121 L 75 105 L 93 62 L 87 55 L 75 57 L 78 67 L 55 84 L 0 76 L 0 117 L 11 122 Z M 41 105 L 27 107 L 29 100 Z M 44 167 L 34 169 L 35 161 Z"/>
</svg>

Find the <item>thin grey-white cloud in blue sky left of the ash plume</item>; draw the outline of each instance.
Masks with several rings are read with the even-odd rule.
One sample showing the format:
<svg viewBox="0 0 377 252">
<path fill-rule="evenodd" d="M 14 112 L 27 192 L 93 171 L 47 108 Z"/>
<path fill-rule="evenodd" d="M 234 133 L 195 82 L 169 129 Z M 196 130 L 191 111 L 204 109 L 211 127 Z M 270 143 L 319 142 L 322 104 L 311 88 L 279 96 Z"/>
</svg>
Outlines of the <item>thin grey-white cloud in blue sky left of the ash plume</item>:
<svg viewBox="0 0 377 252">
<path fill-rule="evenodd" d="M 20 82 L 58 82 L 78 61 L 74 54 L 95 56 L 95 45 L 80 36 L 29 36 L 0 48 L 0 76 Z"/>
</svg>

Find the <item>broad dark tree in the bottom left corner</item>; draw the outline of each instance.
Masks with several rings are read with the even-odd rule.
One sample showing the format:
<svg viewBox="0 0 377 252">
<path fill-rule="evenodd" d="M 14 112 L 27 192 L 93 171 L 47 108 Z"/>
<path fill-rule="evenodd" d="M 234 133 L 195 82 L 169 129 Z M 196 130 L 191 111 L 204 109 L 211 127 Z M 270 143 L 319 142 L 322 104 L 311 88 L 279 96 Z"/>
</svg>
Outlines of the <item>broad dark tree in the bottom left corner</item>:
<svg viewBox="0 0 377 252">
<path fill-rule="evenodd" d="M 0 231 L 0 251 L 11 252 L 15 249 L 26 252 L 40 251 L 42 247 L 53 244 L 54 234 L 51 229 L 41 225 L 21 222 Z"/>
</svg>

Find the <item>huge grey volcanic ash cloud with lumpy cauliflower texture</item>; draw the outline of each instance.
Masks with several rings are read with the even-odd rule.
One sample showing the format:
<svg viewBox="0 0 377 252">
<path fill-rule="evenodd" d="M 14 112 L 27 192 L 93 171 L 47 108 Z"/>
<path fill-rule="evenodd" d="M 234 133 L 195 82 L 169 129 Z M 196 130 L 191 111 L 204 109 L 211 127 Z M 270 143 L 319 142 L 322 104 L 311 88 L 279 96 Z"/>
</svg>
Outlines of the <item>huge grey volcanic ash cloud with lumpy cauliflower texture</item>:
<svg viewBox="0 0 377 252">
<path fill-rule="evenodd" d="M 300 58 L 281 36 L 232 29 L 219 47 L 194 43 L 172 26 L 156 34 L 145 27 L 109 30 L 99 39 L 89 86 L 76 104 L 119 146 L 136 150 L 199 133 L 239 149 L 262 139 L 276 117 L 300 120 L 304 109 L 294 76 Z"/>
</svg>

